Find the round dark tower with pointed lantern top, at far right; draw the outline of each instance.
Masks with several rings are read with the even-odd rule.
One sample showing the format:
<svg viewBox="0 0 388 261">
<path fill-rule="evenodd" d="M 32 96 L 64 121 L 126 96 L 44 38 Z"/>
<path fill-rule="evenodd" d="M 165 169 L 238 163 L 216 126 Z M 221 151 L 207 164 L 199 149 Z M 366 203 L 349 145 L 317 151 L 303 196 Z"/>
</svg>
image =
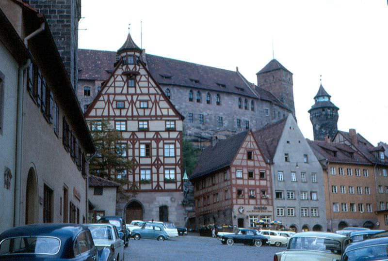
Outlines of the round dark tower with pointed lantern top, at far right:
<svg viewBox="0 0 388 261">
<path fill-rule="evenodd" d="M 314 97 L 315 104 L 308 110 L 314 140 L 324 140 L 327 136 L 333 138 L 337 133 L 339 108 L 330 101 L 330 97 L 321 84 Z"/>
</svg>

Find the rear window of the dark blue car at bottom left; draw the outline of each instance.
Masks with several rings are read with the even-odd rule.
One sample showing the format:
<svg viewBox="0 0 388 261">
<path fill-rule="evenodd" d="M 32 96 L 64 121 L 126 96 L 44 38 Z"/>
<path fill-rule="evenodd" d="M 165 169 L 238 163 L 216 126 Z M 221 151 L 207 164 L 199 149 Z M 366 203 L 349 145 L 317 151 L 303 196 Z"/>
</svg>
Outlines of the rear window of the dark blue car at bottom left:
<svg viewBox="0 0 388 261">
<path fill-rule="evenodd" d="M 53 237 L 14 237 L 1 242 L 0 255 L 58 253 L 61 241 Z"/>
</svg>

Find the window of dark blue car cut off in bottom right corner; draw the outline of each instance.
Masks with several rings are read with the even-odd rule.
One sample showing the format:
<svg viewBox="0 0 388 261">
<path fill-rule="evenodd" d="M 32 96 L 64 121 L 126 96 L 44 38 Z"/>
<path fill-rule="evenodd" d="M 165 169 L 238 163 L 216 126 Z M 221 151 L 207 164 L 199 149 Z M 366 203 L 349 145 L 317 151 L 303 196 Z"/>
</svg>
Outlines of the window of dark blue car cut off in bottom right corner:
<svg viewBox="0 0 388 261">
<path fill-rule="evenodd" d="M 387 260 L 388 245 L 368 246 L 344 254 L 343 261 Z"/>
</svg>

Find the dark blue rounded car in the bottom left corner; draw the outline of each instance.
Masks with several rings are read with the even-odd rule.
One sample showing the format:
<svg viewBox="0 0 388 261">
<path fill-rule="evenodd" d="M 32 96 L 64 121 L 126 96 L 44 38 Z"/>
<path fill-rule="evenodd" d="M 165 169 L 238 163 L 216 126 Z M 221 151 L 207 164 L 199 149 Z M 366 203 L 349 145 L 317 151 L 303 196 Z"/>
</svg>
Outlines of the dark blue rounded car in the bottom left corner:
<svg viewBox="0 0 388 261">
<path fill-rule="evenodd" d="M 96 261 L 90 230 L 78 224 L 34 224 L 0 234 L 0 260 Z"/>
</svg>

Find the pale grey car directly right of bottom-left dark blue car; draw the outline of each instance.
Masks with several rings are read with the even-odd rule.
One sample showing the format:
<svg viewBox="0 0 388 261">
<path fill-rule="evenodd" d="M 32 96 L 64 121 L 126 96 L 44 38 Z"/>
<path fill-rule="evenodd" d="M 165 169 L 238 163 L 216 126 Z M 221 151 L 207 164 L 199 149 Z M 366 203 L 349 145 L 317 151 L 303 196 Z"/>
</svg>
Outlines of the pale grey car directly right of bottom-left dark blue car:
<svg viewBox="0 0 388 261">
<path fill-rule="evenodd" d="M 104 247 L 110 248 L 116 261 L 124 261 L 124 241 L 119 237 L 117 229 L 112 224 L 86 224 L 90 230 L 94 245 L 102 252 Z M 101 256 L 101 255 L 100 255 Z"/>
</svg>

